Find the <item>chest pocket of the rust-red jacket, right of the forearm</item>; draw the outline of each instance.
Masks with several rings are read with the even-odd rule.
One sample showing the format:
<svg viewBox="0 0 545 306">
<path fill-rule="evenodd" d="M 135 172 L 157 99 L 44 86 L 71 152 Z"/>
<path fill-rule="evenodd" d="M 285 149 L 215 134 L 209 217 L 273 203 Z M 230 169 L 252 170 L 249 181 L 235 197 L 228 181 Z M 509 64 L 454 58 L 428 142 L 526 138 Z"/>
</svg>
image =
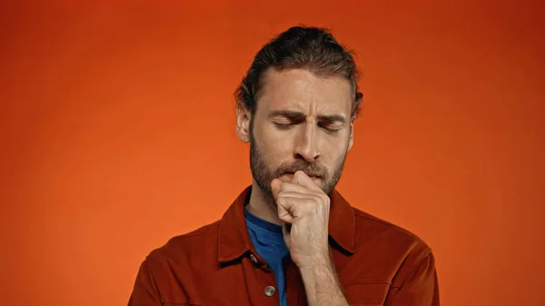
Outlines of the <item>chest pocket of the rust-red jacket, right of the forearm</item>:
<svg viewBox="0 0 545 306">
<path fill-rule="evenodd" d="M 388 282 L 356 282 L 344 286 L 344 297 L 352 306 L 381 306 L 389 289 Z"/>
</svg>

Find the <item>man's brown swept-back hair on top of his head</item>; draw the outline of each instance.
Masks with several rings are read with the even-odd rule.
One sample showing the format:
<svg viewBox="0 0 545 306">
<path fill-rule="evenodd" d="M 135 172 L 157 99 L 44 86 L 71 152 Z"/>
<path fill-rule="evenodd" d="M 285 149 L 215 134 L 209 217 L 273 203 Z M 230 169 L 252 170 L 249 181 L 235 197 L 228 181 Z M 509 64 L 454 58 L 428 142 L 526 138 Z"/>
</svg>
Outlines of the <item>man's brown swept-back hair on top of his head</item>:
<svg viewBox="0 0 545 306">
<path fill-rule="evenodd" d="M 344 77 L 352 85 L 352 118 L 360 111 L 362 93 L 358 92 L 359 76 L 352 53 L 339 44 L 326 29 L 293 26 L 274 37 L 255 54 L 253 63 L 235 92 L 237 103 L 255 114 L 256 101 L 263 87 L 263 73 L 302 68 L 313 74 Z"/>
</svg>

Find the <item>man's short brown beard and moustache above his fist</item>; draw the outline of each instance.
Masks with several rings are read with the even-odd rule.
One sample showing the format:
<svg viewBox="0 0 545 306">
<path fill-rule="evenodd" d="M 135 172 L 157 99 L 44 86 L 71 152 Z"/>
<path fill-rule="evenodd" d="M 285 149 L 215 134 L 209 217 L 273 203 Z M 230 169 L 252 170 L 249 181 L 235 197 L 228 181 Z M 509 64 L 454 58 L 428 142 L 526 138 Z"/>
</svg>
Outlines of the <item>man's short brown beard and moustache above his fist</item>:
<svg viewBox="0 0 545 306">
<path fill-rule="evenodd" d="M 264 152 L 263 148 L 253 137 L 253 129 L 251 129 L 250 134 L 250 168 L 252 170 L 253 181 L 261 189 L 265 201 L 270 204 L 275 204 L 271 182 L 273 179 L 279 178 L 284 174 L 302 171 L 307 175 L 317 176 L 322 182 L 319 187 L 328 195 L 341 179 L 346 153 L 344 153 L 340 163 L 336 165 L 331 174 L 321 164 L 307 162 L 303 159 L 295 160 L 292 163 L 281 163 L 276 169 L 271 169 L 266 159 L 266 152 Z"/>
</svg>

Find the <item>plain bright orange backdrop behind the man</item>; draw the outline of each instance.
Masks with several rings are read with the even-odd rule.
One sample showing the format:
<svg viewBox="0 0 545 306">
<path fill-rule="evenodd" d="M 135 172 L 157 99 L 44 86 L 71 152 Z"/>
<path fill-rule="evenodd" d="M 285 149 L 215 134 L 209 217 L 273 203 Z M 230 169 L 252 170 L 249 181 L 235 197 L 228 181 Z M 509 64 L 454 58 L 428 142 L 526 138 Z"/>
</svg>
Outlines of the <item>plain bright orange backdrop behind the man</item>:
<svg viewBox="0 0 545 306">
<path fill-rule="evenodd" d="M 124 305 L 219 219 L 251 182 L 233 91 L 302 23 L 364 73 L 339 190 L 431 245 L 443 305 L 545 305 L 545 7 L 437 2 L 4 1 L 0 303 Z"/>
</svg>

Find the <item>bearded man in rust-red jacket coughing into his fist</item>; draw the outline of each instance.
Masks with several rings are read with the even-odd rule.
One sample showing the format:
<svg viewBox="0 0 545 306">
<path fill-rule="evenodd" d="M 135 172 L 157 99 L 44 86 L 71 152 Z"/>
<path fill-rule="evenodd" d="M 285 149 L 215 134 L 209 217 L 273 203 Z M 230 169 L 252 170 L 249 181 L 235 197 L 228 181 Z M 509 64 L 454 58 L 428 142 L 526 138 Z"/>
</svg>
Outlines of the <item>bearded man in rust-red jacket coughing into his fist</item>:
<svg viewBox="0 0 545 306">
<path fill-rule="evenodd" d="M 151 252 L 129 305 L 439 305 L 431 249 L 334 189 L 362 99 L 356 75 L 323 29 L 263 46 L 236 94 L 253 184 L 220 221 Z"/>
</svg>

